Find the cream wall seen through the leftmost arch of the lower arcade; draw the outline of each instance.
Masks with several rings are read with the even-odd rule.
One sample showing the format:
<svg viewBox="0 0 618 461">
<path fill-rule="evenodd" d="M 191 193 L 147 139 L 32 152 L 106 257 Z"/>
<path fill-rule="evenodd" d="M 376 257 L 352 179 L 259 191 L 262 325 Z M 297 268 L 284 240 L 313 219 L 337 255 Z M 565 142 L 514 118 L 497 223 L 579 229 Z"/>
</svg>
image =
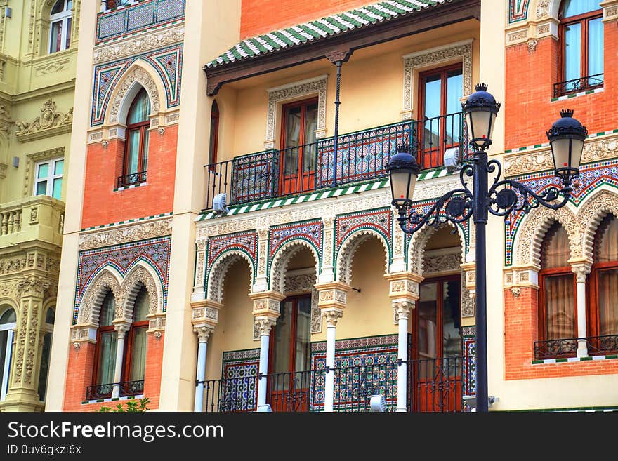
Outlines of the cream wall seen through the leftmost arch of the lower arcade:
<svg viewBox="0 0 618 461">
<path fill-rule="evenodd" d="M 223 352 L 240 349 L 259 349 L 254 341 L 253 302 L 249 299 L 251 270 L 249 263 L 239 260 L 230 267 L 223 283 L 223 308 L 219 323 L 208 340 L 206 379 L 221 378 Z"/>
</svg>

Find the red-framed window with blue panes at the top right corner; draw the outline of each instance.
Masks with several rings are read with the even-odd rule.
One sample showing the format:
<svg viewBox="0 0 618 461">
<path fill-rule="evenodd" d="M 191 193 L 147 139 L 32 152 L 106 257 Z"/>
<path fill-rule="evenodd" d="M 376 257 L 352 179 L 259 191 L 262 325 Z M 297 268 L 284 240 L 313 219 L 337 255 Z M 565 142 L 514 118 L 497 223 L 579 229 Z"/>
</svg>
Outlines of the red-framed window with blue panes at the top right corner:
<svg viewBox="0 0 618 461">
<path fill-rule="evenodd" d="M 599 0 L 563 0 L 560 5 L 560 94 L 603 84 L 602 20 Z"/>
</svg>

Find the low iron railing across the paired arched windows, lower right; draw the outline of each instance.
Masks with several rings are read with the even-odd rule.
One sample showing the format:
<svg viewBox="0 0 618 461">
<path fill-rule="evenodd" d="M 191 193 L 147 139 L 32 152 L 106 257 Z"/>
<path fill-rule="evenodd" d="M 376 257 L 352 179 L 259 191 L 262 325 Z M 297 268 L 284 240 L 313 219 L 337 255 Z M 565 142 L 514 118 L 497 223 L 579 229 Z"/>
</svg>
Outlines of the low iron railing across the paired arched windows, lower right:
<svg viewBox="0 0 618 461">
<path fill-rule="evenodd" d="M 586 338 L 561 338 L 534 342 L 534 359 L 564 359 L 577 356 L 579 340 L 586 341 L 589 355 L 618 353 L 618 335 L 588 336 Z"/>
</svg>

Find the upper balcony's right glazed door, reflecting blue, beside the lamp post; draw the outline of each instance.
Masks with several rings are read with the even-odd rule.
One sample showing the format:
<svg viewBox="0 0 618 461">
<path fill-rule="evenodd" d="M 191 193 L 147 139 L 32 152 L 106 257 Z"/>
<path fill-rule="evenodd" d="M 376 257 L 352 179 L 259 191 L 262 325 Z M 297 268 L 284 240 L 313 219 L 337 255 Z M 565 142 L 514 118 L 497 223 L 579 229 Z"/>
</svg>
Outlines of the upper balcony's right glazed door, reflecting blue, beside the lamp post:
<svg viewBox="0 0 618 461">
<path fill-rule="evenodd" d="M 459 146 L 463 73 L 461 64 L 422 72 L 419 81 L 419 163 L 422 168 L 444 164 L 444 153 Z"/>
</svg>

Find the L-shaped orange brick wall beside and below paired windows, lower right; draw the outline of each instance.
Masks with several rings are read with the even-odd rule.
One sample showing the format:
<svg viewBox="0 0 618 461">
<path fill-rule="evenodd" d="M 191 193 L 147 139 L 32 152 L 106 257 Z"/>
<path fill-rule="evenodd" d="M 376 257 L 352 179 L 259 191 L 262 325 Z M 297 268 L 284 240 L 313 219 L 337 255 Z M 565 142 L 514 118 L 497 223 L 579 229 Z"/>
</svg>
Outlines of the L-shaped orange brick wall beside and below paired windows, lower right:
<svg viewBox="0 0 618 461">
<path fill-rule="evenodd" d="M 534 341 L 538 340 L 538 292 L 521 288 L 515 298 L 504 290 L 504 361 L 506 380 L 560 378 L 618 373 L 618 359 L 532 365 Z"/>
</svg>

